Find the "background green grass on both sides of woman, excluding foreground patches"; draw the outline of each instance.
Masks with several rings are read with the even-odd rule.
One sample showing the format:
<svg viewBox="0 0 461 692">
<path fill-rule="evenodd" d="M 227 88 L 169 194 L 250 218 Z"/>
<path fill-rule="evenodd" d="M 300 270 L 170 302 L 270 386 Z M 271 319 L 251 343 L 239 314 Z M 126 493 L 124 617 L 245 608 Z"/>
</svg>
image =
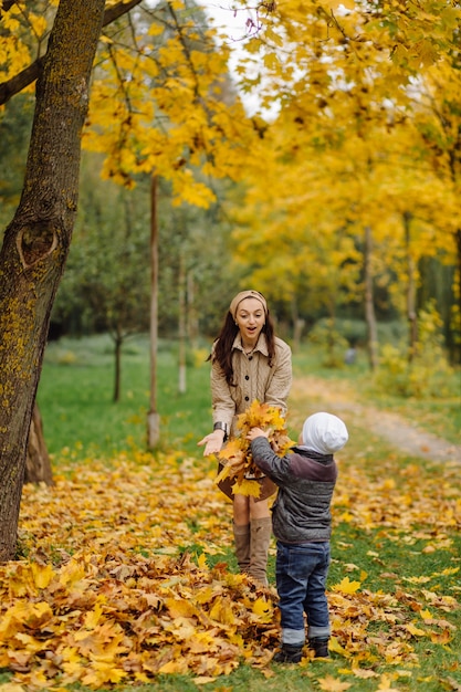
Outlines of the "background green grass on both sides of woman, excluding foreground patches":
<svg viewBox="0 0 461 692">
<path fill-rule="evenodd" d="M 147 337 L 126 343 L 122 359 L 121 400 L 114 403 L 114 348 L 107 336 L 61 339 L 45 353 L 38 402 L 44 434 L 52 454 L 69 449 L 71 458 L 114 453 L 146 444 L 149 409 L 149 345 Z M 178 347 L 160 342 L 157 363 L 157 411 L 160 445 L 188 453 L 210 430 L 208 346 L 187 355 L 187 390 L 178 391 Z M 294 376 L 315 375 L 328 381 L 350 382 L 355 396 L 377 408 L 400 412 L 427 430 L 454 443 L 460 442 L 460 398 L 404 399 L 373 387 L 364 354 L 342 368 L 322 365 L 322 353 L 308 347 L 293 357 Z M 461 371 L 455 375 L 460 384 Z M 457 390 L 457 384 L 454 385 Z M 292 434 L 296 431 L 291 430 Z"/>
</svg>

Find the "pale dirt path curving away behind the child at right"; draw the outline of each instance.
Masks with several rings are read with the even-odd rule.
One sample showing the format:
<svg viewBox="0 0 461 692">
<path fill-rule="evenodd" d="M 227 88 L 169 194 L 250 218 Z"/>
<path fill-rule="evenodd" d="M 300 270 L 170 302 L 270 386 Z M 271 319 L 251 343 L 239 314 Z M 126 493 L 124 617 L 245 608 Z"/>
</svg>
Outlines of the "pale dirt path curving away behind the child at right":
<svg viewBox="0 0 461 692">
<path fill-rule="evenodd" d="M 453 444 L 426 432 L 397 413 L 360 403 L 348 382 L 328 382 L 315 377 L 296 378 L 291 398 L 300 403 L 305 399 L 306 415 L 323 408 L 344 417 L 350 423 L 368 428 L 408 454 L 431 461 L 461 463 L 461 444 Z"/>
</svg>

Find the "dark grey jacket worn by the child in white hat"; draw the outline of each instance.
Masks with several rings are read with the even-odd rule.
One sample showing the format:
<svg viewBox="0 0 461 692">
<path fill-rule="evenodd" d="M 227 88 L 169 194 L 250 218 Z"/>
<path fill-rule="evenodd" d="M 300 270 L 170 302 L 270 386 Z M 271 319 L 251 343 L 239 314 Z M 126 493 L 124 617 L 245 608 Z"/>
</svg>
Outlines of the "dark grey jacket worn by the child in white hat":
<svg viewBox="0 0 461 692">
<path fill-rule="evenodd" d="M 274 536 L 282 543 L 328 541 L 332 533 L 329 511 L 337 478 L 333 454 L 294 447 L 277 457 L 266 438 L 251 443 L 254 463 L 279 486 L 272 507 Z"/>
</svg>

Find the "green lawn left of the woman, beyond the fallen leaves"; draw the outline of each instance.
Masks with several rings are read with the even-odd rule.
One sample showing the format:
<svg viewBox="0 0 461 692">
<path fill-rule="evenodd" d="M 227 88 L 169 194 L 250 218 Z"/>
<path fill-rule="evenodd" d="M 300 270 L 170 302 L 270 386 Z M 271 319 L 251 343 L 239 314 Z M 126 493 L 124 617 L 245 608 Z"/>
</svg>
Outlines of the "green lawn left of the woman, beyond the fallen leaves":
<svg viewBox="0 0 461 692">
<path fill-rule="evenodd" d="M 175 344 L 160 345 L 157 364 L 157 412 L 160 445 L 192 452 L 210 430 L 211 399 L 207 350 L 190 354 L 187 390 L 178 391 Z M 149 409 L 147 338 L 127 343 L 122 359 L 122 392 L 114 397 L 114 355 L 106 336 L 62 339 L 48 346 L 38 391 L 51 454 L 69 449 L 71 458 L 114 453 L 146 445 Z"/>
</svg>

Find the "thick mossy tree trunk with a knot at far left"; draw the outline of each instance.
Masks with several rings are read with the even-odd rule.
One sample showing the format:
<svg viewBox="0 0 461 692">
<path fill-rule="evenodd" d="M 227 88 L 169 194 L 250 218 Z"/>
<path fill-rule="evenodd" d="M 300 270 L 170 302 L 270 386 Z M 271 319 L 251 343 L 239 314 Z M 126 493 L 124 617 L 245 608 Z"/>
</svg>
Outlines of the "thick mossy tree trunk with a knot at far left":
<svg viewBox="0 0 461 692">
<path fill-rule="evenodd" d="M 59 4 L 36 84 L 22 196 L 0 252 L 0 560 L 15 553 L 27 441 L 75 221 L 81 134 L 104 4 Z"/>
</svg>

